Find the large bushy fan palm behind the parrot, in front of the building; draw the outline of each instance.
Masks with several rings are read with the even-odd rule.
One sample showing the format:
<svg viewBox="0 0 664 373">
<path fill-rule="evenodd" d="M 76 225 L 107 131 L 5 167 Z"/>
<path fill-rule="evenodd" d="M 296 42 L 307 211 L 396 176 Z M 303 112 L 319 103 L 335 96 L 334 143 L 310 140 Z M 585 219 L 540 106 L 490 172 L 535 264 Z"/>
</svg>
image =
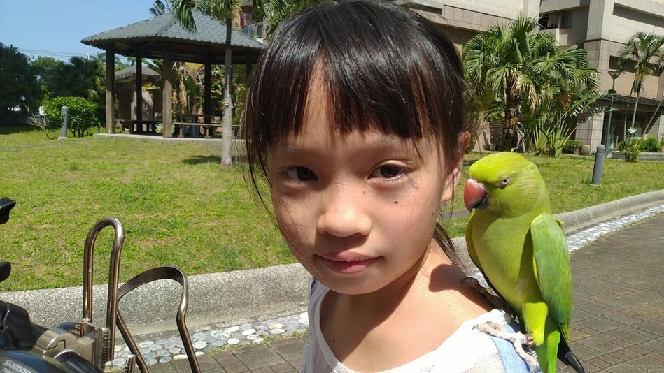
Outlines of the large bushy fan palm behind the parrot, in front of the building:
<svg viewBox="0 0 664 373">
<path fill-rule="evenodd" d="M 544 125 L 540 113 L 549 112 L 549 121 L 555 122 L 550 124 L 559 126 L 570 117 L 563 113 L 571 110 L 583 89 L 599 89 L 599 75 L 588 63 L 586 50 L 575 45 L 560 50 L 556 39 L 537 32 L 537 27 L 535 17 L 520 15 L 514 22 L 490 27 L 463 47 L 467 82 L 485 103 L 482 110 L 493 113 L 486 119 L 501 113 L 503 150 L 514 146 L 517 130 L 532 140 L 537 126 Z"/>
</svg>

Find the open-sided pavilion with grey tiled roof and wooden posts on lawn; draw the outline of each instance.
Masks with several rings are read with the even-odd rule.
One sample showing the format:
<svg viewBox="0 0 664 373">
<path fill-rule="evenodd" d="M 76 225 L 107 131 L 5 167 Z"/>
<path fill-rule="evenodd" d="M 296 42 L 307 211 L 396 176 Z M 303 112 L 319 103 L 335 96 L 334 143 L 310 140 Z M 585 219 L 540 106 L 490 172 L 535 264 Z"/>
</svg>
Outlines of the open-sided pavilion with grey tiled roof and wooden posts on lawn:
<svg viewBox="0 0 664 373">
<path fill-rule="evenodd" d="M 195 62 L 204 65 L 204 115 L 212 115 L 211 66 L 224 64 L 226 52 L 226 25 L 223 22 L 192 9 L 196 31 L 187 31 L 171 13 L 118 27 L 88 36 L 81 43 L 106 51 L 106 133 L 115 132 L 115 112 L 113 94 L 115 89 L 115 54 L 136 58 L 136 102 L 142 102 L 142 59 L 161 59 L 162 71 L 162 115 L 165 138 L 173 133 L 172 77 L 173 61 Z M 255 62 L 264 45 L 240 31 L 231 34 L 232 64 L 246 64 L 247 71 Z M 143 123 L 153 122 L 153 118 L 143 119 L 142 110 L 136 110 L 136 125 L 142 129 Z"/>
</svg>

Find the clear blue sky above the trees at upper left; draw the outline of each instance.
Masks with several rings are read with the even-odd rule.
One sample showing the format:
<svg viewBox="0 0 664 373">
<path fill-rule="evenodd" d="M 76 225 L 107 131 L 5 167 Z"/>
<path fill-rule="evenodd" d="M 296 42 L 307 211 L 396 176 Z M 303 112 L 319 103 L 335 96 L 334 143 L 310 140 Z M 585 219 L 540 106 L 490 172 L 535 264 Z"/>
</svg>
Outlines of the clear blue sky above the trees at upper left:
<svg viewBox="0 0 664 373">
<path fill-rule="evenodd" d="M 153 17 L 154 0 L 0 0 L 0 43 L 31 59 L 69 61 L 103 50 L 80 43 L 100 32 Z"/>
</svg>

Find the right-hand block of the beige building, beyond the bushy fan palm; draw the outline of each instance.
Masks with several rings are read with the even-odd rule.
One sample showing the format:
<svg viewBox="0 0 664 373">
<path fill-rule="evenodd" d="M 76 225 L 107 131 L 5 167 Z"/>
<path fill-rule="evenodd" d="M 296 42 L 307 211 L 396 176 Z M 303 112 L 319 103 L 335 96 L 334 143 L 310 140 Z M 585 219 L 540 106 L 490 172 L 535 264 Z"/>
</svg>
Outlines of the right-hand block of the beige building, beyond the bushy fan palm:
<svg viewBox="0 0 664 373">
<path fill-rule="evenodd" d="M 591 64 L 602 73 L 602 89 L 612 89 L 614 80 L 609 71 L 618 67 L 616 56 L 630 36 L 637 31 L 664 35 L 664 0 L 543 0 L 539 13 L 549 19 L 558 18 L 551 31 L 561 45 L 577 44 L 588 50 Z M 664 94 L 661 73 L 656 70 L 644 81 L 635 120 L 637 137 L 651 135 L 661 140 L 664 136 L 664 108 L 657 110 Z M 614 148 L 624 139 L 635 107 L 635 94 L 628 103 L 633 81 L 634 71 L 628 65 L 615 80 L 618 96 L 614 106 L 619 111 L 612 113 L 611 123 L 609 113 L 588 120 L 577 129 L 577 139 L 591 145 L 591 149 L 600 143 Z M 610 104 L 609 99 L 602 101 L 600 105 Z"/>
</svg>

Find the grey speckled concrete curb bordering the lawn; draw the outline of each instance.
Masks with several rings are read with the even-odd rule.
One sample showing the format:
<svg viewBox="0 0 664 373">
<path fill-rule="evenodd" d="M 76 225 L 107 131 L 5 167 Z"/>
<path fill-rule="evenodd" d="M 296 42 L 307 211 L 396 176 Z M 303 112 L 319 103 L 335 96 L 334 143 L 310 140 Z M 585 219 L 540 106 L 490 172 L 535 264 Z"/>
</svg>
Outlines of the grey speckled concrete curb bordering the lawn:
<svg viewBox="0 0 664 373">
<path fill-rule="evenodd" d="M 568 234 L 647 207 L 664 203 L 664 190 L 654 191 L 556 215 Z M 465 239 L 453 240 L 462 269 L 477 272 L 465 250 Z M 219 272 L 189 277 L 187 323 L 191 332 L 244 322 L 260 321 L 306 310 L 311 275 L 301 265 L 278 265 L 255 270 Z M 93 321 L 106 319 L 106 286 L 94 286 Z M 180 286 L 155 281 L 129 293 L 120 312 L 133 335 L 176 334 L 175 314 Z M 34 323 L 48 328 L 62 321 L 80 321 L 83 291 L 80 287 L 1 293 L 0 300 L 27 309 Z"/>
</svg>

